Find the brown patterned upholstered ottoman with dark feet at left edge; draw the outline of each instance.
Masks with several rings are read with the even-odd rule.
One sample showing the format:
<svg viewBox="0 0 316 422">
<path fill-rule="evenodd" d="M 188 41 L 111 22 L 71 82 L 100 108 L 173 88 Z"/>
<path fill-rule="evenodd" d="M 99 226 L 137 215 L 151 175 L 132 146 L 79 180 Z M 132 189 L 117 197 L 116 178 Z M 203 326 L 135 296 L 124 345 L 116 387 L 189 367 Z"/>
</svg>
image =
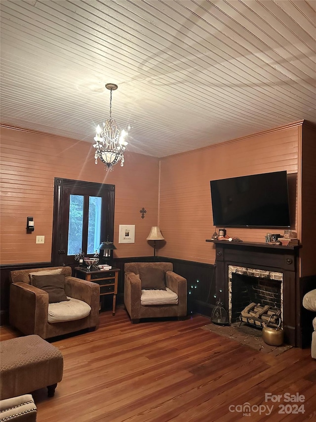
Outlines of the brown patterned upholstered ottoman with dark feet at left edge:
<svg viewBox="0 0 316 422">
<path fill-rule="evenodd" d="M 55 394 L 63 377 L 63 355 L 39 335 L 0 342 L 0 400 L 47 387 Z"/>
</svg>

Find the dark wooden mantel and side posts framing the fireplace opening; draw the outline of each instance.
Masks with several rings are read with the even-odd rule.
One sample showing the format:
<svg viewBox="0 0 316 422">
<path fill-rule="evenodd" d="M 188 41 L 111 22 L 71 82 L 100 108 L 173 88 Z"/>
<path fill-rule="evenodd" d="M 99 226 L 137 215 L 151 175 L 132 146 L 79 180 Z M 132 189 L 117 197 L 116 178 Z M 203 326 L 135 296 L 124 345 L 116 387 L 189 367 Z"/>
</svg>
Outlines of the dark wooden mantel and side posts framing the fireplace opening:
<svg viewBox="0 0 316 422">
<path fill-rule="evenodd" d="M 219 290 L 222 290 L 221 296 L 224 295 L 224 307 L 227 312 L 231 309 L 229 283 L 232 268 L 258 270 L 258 274 L 277 273 L 277 278 L 282 279 L 280 281 L 284 342 L 291 346 L 300 346 L 301 303 L 297 270 L 299 246 L 208 239 L 206 241 L 214 243 L 216 247 L 216 292 L 219 294 Z"/>
</svg>

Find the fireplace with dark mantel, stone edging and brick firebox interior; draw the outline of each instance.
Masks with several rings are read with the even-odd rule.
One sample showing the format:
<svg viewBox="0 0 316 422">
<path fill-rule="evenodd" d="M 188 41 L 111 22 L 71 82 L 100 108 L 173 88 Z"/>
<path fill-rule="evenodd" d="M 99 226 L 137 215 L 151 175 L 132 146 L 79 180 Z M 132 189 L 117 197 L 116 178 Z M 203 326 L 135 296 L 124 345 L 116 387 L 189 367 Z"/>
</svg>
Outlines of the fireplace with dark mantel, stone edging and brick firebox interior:
<svg viewBox="0 0 316 422">
<path fill-rule="evenodd" d="M 216 247 L 216 291 L 222 290 L 224 307 L 231 322 L 237 318 L 243 304 L 262 301 L 264 305 L 270 304 L 280 310 L 284 341 L 298 346 L 301 342 L 297 274 L 299 246 L 206 241 L 213 242 Z M 242 291 L 237 293 L 237 303 L 236 286 Z"/>
</svg>

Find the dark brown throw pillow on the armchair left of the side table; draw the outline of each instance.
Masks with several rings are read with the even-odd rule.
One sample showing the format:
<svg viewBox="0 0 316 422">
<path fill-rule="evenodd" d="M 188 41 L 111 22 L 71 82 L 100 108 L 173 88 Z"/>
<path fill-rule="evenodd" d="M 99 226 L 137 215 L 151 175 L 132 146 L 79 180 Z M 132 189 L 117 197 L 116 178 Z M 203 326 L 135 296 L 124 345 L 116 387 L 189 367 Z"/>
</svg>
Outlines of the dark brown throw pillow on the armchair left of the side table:
<svg viewBox="0 0 316 422">
<path fill-rule="evenodd" d="M 65 276 L 63 274 L 33 275 L 33 285 L 47 291 L 49 303 L 70 300 L 65 293 Z"/>
</svg>

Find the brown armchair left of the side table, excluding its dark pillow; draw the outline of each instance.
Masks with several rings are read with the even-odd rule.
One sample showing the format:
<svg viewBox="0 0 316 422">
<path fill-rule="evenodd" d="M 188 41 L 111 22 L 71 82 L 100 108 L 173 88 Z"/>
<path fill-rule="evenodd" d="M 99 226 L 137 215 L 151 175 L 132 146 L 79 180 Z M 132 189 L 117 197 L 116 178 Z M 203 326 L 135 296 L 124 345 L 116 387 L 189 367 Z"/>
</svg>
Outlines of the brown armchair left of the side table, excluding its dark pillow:
<svg viewBox="0 0 316 422">
<path fill-rule="evenodd" d="M 43 272 L 65 276 L 68 301 L 49 303 L 47 291 L 31 284 L 30 274 Z M 10 325 L 26 335 L 38 334 L 44 339 L 95 328 L 99 321 L 100 286 L 71 275 L 71 267 L 11 271 Z"/>
</svg>

